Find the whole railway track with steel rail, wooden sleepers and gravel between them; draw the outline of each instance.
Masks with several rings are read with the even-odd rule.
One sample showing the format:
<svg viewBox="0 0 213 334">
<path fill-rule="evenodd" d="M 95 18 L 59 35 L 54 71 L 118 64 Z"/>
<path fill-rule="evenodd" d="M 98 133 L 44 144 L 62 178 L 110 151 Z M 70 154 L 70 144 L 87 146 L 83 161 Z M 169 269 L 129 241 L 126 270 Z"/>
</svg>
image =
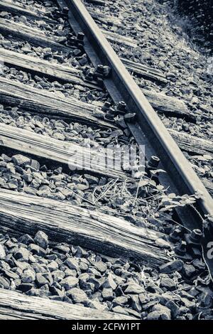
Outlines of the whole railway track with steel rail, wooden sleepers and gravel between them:
<svg viewBox="0 0 213 334">
<path fill-rule="evenodd" d="M 203 312 L 193 297 L 163 293 L 178 290 L 178 271 L 183 290 L 213 273 L 212 184 L 180 151 L 211 155 L 212 143 L 168 131 L 155 109 L 195 115 L 139 87 L 132 75 L 167 78 L 120 59 L 109 43 L 137 42 L 100 29 L 104 14 L 81 1 L 6 0 L 0 10 L 0 317 L 181 318 L 173 303 Z M 135 160 L 145 147 L 145 169 L 115 168 L 109 144 L 134 147 Z"/>
</svg>

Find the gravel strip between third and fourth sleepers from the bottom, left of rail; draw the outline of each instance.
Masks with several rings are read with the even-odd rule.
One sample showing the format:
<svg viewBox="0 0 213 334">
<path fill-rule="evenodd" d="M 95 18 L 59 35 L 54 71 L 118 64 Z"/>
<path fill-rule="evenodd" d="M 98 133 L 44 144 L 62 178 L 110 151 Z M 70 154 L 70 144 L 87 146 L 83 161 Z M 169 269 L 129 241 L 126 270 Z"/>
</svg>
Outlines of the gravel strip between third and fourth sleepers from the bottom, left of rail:
<svg viewBox="0 0 213 334">
<path fill-rule="evenodd" d="M 6 107 L 2 104 L 0 104 L 0 112 L 1 123 L 81 146 L 90 144 L 92 147 L 107 147 L 109 144 L 136 144 L 128 129 L 102 130 L 77 122 L 65 122 L 43 115 L 33 115 L 17 107 Z"/>
</svg>

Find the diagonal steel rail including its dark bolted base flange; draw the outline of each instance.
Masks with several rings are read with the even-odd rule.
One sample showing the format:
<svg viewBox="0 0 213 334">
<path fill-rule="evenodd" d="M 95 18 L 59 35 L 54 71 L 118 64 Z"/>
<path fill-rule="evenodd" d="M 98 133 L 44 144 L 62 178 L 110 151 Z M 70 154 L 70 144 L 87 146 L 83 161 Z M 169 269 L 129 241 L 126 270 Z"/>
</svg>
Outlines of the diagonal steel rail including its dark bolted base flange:
<svg viewBox="0 0 213 334">
<path fill-rule="evenodd" d="M 160 165 L 168 172 L 168 174 L 160 176 L 160 183 L 166 187 L 169 186 L 170 190 L 175 193 L 178 190 L 180 195 L 185 193 L 192 195 L 195 192 L 202 194 L 202 198 L 197 201 L 196 208 L 188 205 L 187 208 L 178 208 L 176 211 L 185 227 L 190 228 L 190 230 L 198 227 L 204 231 L 202 239 L 204 261 L 213 280 L 213 259 L 208 257 L 208 245 L 213 240 L 213 224 L 209 220 L 210 230 L 204 227 L 203 224 L 206 216 L 213 217 L 212 197 L 172 136 L 170 136 L 158 114 L 126 70 L 119 56 L 111 48 L 111 45 L 100 31 L 97 23 L 94 22 L 92 16 L 90 16 L 84 4 L 80 0 L 57 1 L 60 6 L 64 4 L 70 9 L 69 17 L 71 19 L 69 21 L 75 33 L 80 30 L 84 32 L 84 49 L 92 64 L 99 65 L 102 63 L 111 68 L 110 80 L 104 80 L 104 85 L 109 95 L 111 95 L 114 102 L 119 102 L 120 99 L 123 99 L 129 111 L 136 112 L 137 124 L 128 124 L 129 129 L 139 145 L 146 145 L 146 157 L 149 158 L 153 153 L 159 156 Z"/>
</svg>

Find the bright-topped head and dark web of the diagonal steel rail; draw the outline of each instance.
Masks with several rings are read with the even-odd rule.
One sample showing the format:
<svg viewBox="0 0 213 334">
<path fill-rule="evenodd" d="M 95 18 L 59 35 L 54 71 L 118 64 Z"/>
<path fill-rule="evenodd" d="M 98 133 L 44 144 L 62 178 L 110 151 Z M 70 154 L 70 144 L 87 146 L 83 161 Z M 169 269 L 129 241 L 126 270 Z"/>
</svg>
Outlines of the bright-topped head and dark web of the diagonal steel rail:
<svg viewBox="0 0 213 334">
<path fill-rule="evenodd" d="M 213 215 L 213 200 L 190 166 L 178 145 L 170 136 L 157 113 L 151 107 L 111 45 L 100 31 L 80 0 L 65 0 L 67 6 L 80 23 L 82 31 L 92 43 L 104 65 L 111 68 L 111 77 L 116 82 L 122 98 L 131 112 L 136 112 L 137 122 L 148 137 L 148 141 L 160 157 L 166 171 L 170 173 L 181 193 L 202 193 L 200 208 L 205 215 Z"/>
</svg>

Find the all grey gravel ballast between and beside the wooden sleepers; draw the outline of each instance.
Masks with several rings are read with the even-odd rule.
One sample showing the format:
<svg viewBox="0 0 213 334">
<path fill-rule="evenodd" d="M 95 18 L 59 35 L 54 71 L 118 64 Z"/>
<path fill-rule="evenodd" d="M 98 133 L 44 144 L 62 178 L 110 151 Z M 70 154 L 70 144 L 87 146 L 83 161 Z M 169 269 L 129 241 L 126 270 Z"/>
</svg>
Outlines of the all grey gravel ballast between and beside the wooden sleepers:
<svg viewBox="0 0 213 334">
<path fill-rule="evenodd" d="M 32 9 L 45 7 L 52 11 L 55 8 L 55 2 L 47 0 L 17 0 L 17 3 Z M 202 54 L 190 43 L 184 26 L 177 21 L 173 25 L 175 18 L 168 14 L 168 6 L 155 0 L 107 0 L 104 7 L 87 2 L 85 5 L 108 16 L 116 16 L 114 26 L 102 22 L 99 23 L 102 28 L 138 42 L 138 48 L 134 50 L 126 45 L 112 44 L 121 57 L 159 68 L 168 80 L 166 85 L 157 85 L 136 77 L 140 86 L 184 99 L 196 116 L 195 124 L 192 124 L 184 118 L 160 115 L 165 126 L 211 140 L 213 92 L 211 77 L 205 67 L 208 54 Z M 59 22 L 54 28 L 10 14 L 2 17 L 41 28 L 51 36 L 66 37 L 70 32 L 65 22 Z M 59 55 L 50 49 L 16 42 L 1 35 L 0 45 L 80 70 L 89 64 L 87 56 L 78 57 L 75 52 Z M 80 85 L 62 85 L 6 66 L 1 72 L 8 79 L 55 92 L 62 97 L 75 97 L 76 101 L 79 99 L 97 107 L 110 101 L 104 90 L 99 92 Z M 122 144 L 135 144 L 124 118 L 117 119 L 115 124 L 119 129 L 111 131 L 0 105 L 0 122 L 86 148 L 89 145 L 107 148 L 114 144 L 119 148 Z M 188 153 L 185 156 L 201 178 L 212 181 L 211 156 L 193 157 Z M 35 235 L 14 237 L 0 228 L 0 288 L 141 320 L 213 319 L 213 286 L 202 258 L 199 239 L 202 232 L 197 231 L 199 242 L 193 242 L 190 231 L 175 220 L 175 208 L 195 204 L 200 194 L 180 197 L 169 193 L 158 182 L 159 173 L 165 171 L 149 168 L 147 163 L 141 174 L 136 166 L 129 166 L 126 176 L 131 173 L 137 177 L 121 181 L 83 170 L 70 171 L 54 166 L 54 162 L 48 159 L 44 164 L 38 156 L 31 158 L 4 147 L 0 156 L 0 191 L 7 189 L 39 196 L 43 200 L 51 198 L 59 203 L 71 203 L 78 208 L 123 217 L 138 229 L 148 227 L 162 232 L 163 239 L 156 239 L 155 244 L 168 254 L 170 261 L 156 270 L 134 259 L 107 257 L 74 244 L 52 242 L 40 230 Z"/>
</svg>

